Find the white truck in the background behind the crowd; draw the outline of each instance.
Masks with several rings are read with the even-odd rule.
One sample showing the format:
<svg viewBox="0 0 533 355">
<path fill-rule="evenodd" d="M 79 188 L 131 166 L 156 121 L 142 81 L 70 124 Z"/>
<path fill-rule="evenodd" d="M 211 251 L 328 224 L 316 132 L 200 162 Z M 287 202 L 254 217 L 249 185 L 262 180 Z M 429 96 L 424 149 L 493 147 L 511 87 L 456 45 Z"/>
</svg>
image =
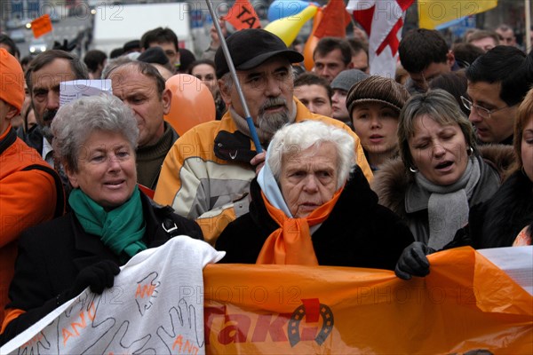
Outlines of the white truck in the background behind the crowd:
<svg viewBox="0 0 533 355">
<path fill-rule="evenodd" d="M 162 27 L 176 33 L 180 48 L 193 50 L 187 3 L 109 4 L 100 0 L 91 10 L 94 12 L 91 49 L 108 55 L 124 43 L 140 39 L 150 29 Z"/>
</svg>

